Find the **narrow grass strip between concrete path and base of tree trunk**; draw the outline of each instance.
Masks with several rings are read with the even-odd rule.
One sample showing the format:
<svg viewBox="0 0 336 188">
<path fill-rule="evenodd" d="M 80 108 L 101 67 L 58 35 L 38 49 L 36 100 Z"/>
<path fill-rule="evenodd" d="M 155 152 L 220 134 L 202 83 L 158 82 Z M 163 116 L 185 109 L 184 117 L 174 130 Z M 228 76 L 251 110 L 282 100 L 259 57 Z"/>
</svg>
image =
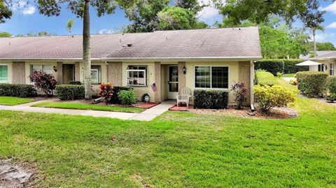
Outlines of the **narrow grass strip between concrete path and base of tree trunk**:
<svg viewBox="0 0 336 188">
<path fill-rule="evenodd" d="M 102 110 L 102 111 L 125 112 L 125 113 L 144 112 L 144 108 L 120 107 L 120 106 L 99 106 L 95 104 L 66 103 L 66 102 L 64 103 L 42 102 L 42 103 L 36 103 L 33 106 L 34 107 L 45 107 L 45 108 L 77 109 L 77 110 Z"/>
</svg>

